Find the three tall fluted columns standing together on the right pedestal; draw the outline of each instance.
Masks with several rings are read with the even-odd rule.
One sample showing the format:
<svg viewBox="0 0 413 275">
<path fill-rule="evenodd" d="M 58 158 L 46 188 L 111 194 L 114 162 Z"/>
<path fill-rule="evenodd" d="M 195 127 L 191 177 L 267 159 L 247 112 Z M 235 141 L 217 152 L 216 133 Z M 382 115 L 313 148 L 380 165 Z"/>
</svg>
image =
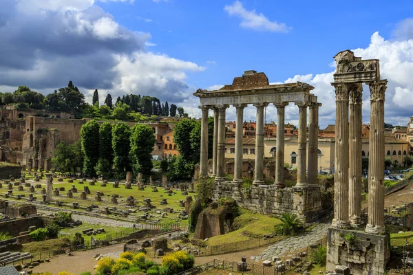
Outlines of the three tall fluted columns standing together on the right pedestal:
<svg viewBox="0 0 413 275">
<path fill-rule="evenodd" d="M 367 84 L 370 88 L 370 156 L 366 232 L 380 234 L 385 230 L 384 94 L 387 80 Z M 336 94 L 335 203 L 332 226 L 350 228 L 351 224 L 359 225 L 361 215 L 362 84 L 332 85 Z"/>
</svg>

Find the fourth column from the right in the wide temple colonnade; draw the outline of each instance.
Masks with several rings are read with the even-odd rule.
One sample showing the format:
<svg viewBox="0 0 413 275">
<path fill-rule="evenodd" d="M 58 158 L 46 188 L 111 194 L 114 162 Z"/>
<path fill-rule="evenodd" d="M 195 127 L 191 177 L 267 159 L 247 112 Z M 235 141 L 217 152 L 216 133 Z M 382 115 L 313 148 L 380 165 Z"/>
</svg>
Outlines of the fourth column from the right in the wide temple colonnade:
<svg viewBox="0 0 413 275">
<path fill-rule="evenodd" d="M 255 129 L 255 168 L 254 181 L 255 186 L 264 184 L 262 169 L 264 167 L 264 107 L 268 103 L 255 103 L 257 108 L 257 124 Z"/>
</svg>

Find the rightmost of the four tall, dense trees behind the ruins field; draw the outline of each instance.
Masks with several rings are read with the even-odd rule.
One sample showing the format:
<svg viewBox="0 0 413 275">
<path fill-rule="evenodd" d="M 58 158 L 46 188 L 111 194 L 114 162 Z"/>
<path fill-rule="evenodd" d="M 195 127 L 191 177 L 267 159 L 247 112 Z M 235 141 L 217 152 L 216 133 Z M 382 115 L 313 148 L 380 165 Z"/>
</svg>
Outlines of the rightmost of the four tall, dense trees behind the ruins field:
<svg viewBox="0 0 413 275">
<path fill-rule="evenodd" d="M 131 131 L 131 156 L 134 159 L 134 172 L 142 173 L 145 178 L 151 175 L 152 151 L 156 138 L 147 124 L 136 124 Z"/>
</svg>

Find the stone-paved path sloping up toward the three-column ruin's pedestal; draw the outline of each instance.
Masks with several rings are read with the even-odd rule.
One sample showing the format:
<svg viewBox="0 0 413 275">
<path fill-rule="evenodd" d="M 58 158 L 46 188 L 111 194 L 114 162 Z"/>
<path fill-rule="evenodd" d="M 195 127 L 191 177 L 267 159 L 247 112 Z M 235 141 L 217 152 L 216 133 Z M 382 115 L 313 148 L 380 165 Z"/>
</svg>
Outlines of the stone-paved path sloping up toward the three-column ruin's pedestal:
<svg viewBox="0 0 413 275">
<path fill-rule="evenodd" d="M 323 239 L 328 232 L 329 226 L 330 223 L 319 223 L 315 225 L 315 228 L 313 228 L 310 232 L 299 234 L 297 236 L 291 236 L 288 239 L 278 241 L 274 245 L 268 246 L 268 248 L 264 250 L 260 256 L 251 256 L 251 259 L 255 257 L 256 261 L 271 261 L 273 256 L 281 257 L 286 252 L 306 248 L 317 243 L 320 239 Z"/>
</svg>

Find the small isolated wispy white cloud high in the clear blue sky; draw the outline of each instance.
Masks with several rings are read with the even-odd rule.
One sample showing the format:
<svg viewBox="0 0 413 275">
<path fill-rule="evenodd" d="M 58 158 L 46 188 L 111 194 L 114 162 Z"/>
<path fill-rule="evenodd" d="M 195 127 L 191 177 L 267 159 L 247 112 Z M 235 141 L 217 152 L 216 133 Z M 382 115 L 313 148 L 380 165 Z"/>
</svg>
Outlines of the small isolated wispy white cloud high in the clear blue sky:
<svg viewBox="0 0 413 275">
<path fill-rule="evenodd" d="M 242 28 L 268 32 L 289 32 L 291 30 L 285 23 L 270 21 L 264 14 L 257 14 L 255 10 L 246 10 L 240 1 L 235 1 L 232 5 L 226 5 L 224 10 L 230 16 L 242 19 L 240 23 Z"/>
</svg>

